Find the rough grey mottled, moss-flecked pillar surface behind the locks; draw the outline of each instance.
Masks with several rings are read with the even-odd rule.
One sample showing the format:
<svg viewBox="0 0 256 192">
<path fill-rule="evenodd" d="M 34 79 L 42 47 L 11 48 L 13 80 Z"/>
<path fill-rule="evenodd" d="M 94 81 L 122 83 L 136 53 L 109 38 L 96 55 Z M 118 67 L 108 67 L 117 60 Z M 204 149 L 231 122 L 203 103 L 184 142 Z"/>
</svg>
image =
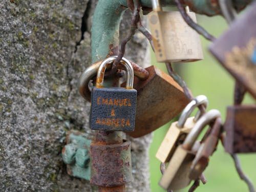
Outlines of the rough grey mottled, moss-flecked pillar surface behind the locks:
<svg viewBox="0 0 256 192">
<path fill-rule="evenodd" d="M 68 130 L 90 132 L 90 103 L 78 94 L 77 81 L 91 64 L 95 5 L 88 0 L 1 1 L 0 191 L 94 191 L 88 181 L 67 174 L 61 149 Z M 129 29 L 128 12 L 120 38 Z M 136 34 L 126 57 L 148 65 L 146 47 L 145 38 Z M 127 191 L 150 191 L 151 135 L 129 139 L 134 179 Z"/>
</svg>

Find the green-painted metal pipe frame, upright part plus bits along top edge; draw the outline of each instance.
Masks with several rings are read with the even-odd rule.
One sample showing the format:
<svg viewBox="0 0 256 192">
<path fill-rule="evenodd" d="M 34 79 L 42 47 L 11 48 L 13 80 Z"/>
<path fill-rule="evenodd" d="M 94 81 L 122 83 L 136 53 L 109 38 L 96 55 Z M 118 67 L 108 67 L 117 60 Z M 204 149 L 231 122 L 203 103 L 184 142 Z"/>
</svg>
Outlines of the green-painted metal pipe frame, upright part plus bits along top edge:
<svg viewBox="0 0 256 192">
<path fill-rule="evenodd" d="M 191 11 L 209 16 L 220 14 L 217 1 L 182 0 L 189 5 Z M 235 0 L 238 9 L 248 5 L 251 0 Z M 143 7 L 152 7 L 151 0 L 141 0 Z M 174 0 L 162 0 L 163 6 L 175 5 Z M 113 49 L 119 45 L 119 24 L 123 12 L 127 9 L 126 0 L 99 0 L 93 16 L 92 24 L 92 63 L 113 55 Z"/>
</svg>

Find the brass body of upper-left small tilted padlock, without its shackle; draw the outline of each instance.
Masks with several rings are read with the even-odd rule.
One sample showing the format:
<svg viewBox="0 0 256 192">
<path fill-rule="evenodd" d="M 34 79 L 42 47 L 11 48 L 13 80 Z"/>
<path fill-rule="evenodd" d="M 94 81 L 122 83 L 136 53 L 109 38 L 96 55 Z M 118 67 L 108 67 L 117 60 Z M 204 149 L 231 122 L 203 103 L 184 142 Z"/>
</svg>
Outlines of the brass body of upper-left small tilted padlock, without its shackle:
<svg viewBox="0 0 256 192">
<path fill-rule="evenodd" d="M 170 125 L 169 130 L 157 151 L 156 158 L 163 163 L 168 162 L 170 158 L 172 158 L 177 146 L 183 143 L 187 134 L 195 125 L 194 117 L 189 117 L 181 128 L 177 127 L 177 123 L 178 121 L 173 122 Z"/>
</svg>

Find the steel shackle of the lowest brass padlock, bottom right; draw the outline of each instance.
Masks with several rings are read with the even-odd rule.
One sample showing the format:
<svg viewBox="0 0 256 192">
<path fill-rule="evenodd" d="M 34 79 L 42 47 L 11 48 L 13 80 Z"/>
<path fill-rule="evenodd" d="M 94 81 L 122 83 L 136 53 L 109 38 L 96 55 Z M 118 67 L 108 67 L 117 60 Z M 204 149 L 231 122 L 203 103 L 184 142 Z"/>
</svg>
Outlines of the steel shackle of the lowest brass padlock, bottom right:
<svg viewBox="0 0 256 192">
<path fill-rule="evenodd" d="M 210 110 L 202 117 L 200 117 L 193 129 L 188 133 L 185 141 L 182 144 L 182 147 L 186 150 L 191 150 L 193 144 L 197 140 L 205 125 L 209 124 L 212 120 L 218 117 L 221 118 L 221 113 L 218 110 Z"/>
</svg>

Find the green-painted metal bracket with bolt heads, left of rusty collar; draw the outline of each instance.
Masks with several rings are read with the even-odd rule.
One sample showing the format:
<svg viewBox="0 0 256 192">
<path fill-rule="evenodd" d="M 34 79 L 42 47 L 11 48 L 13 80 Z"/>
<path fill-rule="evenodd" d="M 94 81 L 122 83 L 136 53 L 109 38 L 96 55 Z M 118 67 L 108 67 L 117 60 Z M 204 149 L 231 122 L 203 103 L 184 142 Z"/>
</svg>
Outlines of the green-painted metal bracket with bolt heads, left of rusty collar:
<svg viewBox="0 0 256 192">
<path fill-rule="evenodd" d="M 68 135 L 67 145 L 62 150 L 62 159 L 67 164 L 69 175 L 90 180 L 91 167 L 89 149 L 91 140 L 83 133 Z"/>
</svg>

